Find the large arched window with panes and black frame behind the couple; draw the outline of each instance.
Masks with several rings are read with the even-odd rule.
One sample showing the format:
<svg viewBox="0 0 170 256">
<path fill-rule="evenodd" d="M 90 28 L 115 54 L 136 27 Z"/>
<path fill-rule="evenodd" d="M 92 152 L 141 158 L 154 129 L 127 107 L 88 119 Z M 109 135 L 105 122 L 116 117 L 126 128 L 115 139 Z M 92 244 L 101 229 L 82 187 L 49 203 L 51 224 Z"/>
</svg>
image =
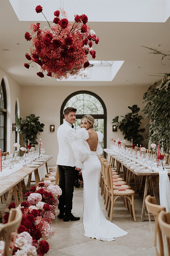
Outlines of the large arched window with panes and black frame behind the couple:
<svg viewBox="0 0 170 256">
<path fill-rule="evenodd" d="M 62 104 L 60 124 L 63 124 L 63 111 L 67 107 L 77 108 L 75 130 L 80 128 L 80 121 L 83 116 L 89 114 L 94 117 L 94 130 L 103 133 L 104 139 L 101 146 L 106 148 L 107 110 L 103 100 L 97 94 L 89 91 L 78 91 L 70 94 Z"/>
</svg>

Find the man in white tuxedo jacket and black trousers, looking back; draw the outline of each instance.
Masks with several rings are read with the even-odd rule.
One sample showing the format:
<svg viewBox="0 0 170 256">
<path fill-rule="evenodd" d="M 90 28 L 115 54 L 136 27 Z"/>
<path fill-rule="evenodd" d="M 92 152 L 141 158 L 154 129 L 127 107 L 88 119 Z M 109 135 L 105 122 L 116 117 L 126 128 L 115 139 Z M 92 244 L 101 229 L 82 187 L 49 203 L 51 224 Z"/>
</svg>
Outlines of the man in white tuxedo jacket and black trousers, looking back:
<svg viewBox="0 0 170 256">
<path fill-rule="evenodd" d="M 76 108 L 65 108 L 65 122 L 61 124 L 57 130 L 57 139 L 59 152 L 57 157 L 59 186 L 62 189 L 62 196 L 59 197 L 58 214 L 59 219 L 63 221 L 79 220 L 72 213 L 72 199 L 74 191 L 74 182 L 77 178 L 76 159 L 71 149 L 71 145 L 76 141 L 75 132 L 73 130 L 76 120 Z"/>
</svg>

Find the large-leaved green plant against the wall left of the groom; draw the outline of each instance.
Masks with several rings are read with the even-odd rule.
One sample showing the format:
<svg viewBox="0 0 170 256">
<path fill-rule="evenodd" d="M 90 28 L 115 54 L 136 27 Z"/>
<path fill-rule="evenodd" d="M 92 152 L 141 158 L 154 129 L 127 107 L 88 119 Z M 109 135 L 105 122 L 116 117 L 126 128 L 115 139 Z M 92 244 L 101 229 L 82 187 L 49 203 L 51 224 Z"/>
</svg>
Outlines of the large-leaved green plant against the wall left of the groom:
<svg viewBox="0 0 170 256">
<path fill-rule="evenodd" d="M 24 145 L 28 145 L 28 140 L 30 145 L 37 145 L 37 133 L 43 132 L 44 124 L 39 122 L 40 116 L 35 116 L 30 114 L 26 116 L 25 120 L 22 120 L 22 116 L 18 118 L 18 114 L 15 116 L 16 131 L 24 135 Z"/>
</svg>

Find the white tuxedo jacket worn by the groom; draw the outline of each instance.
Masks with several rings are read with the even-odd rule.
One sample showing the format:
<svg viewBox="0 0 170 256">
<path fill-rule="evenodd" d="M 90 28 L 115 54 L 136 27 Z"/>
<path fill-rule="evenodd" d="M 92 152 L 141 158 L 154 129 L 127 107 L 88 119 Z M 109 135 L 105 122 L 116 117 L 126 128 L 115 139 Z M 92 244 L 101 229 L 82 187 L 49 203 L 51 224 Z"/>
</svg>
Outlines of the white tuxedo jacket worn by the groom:
<svg viewBox="0 0 170 256">
<path fill-rule="evenodd" d="M 64 123 L 59 126 L 57 139 L 59 146 L 57 164 L 72 167 L 76 166 L 76 158 L 71 148 L 72 143 L 76 141 L 76 135 L 70 123 L 64 121 Z"/>
</svg>

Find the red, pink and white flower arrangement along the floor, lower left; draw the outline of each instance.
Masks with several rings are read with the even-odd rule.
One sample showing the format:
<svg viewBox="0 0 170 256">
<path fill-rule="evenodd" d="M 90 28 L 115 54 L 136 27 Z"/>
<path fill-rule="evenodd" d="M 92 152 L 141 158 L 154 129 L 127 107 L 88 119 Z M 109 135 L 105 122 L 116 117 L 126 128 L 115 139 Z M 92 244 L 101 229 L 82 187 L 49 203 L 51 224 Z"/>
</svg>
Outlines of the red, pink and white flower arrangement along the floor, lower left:
<svg viewBox="0 0 170 256">
<path fill-rule="evenodd" d="M 25 193 L 26 202 L 18 206 L 22 211 L 21 225 L 16 238 L 11 237 L 9 250 L 14 243 L 12 255 L 43 256 L 48 252 L 49 245 L 46 240 L 55 234 L 51 225 L 56 217 L 55 208 L 61 195 L 61 188 L 48 182 L 42 182 L 38 187 L 32 187 L 30 192 Z M 11 203 L 8 208 L 15 207 L 16 204 Z M 4 223 L 8 221 L 8 217 L 9 213 L 4 215 Z M 4 244 L 1 243 L 0 247 L 3 246 Z"/>
</svg>

